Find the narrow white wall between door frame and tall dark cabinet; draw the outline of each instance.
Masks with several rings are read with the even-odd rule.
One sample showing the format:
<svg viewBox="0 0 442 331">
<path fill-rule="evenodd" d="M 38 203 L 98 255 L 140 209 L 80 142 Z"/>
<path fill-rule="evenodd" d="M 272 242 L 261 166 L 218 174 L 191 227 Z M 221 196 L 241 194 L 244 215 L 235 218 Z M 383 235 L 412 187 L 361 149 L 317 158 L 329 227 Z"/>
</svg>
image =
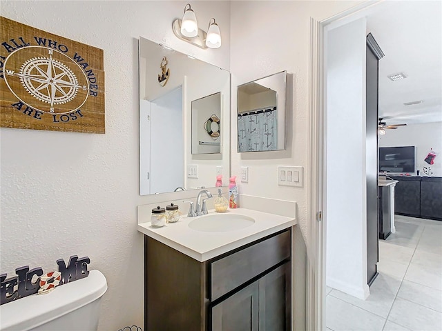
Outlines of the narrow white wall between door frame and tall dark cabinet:
<svg viewBox="0 0 442 331">
<path fill-rule="evenodd" d="M 326 283 L 360 299 L 369 294 L 365 165 L 366 26 L 364 18 L 329 31 L 326 48 Z"/>
</svg>

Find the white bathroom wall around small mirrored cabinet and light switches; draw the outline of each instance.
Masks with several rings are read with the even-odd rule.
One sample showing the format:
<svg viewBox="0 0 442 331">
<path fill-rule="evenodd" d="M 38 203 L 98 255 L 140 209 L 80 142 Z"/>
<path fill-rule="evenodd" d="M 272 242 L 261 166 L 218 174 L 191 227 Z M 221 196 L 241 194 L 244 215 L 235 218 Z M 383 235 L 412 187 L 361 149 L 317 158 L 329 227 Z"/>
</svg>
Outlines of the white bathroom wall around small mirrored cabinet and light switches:
<svg viewBox="0 0 442 331">
<path fill-rule="evenodd" d="M 294 261 L 305 265 L 307 161 L 309 125 L 310 17 L 326 19 L 362 1 L 232 1 L 231 3 L 231 172 L 249 167 L 249 183 L 237 181 L 240 194 L 298 203 Z M 236 140 L 236 88 L 238 85 L 287 70 L 289 81 L 287 150 L 238 153 Z M 278 186 L 278 165 L 302 165 L 304 187 Z M 239 179 L 239 178 L 238 178 Z M 302 235 L 299 230 L 302 230 Z M 294 270 L 294 330 L 305 330 L 305 268 Z"/>
</svg>

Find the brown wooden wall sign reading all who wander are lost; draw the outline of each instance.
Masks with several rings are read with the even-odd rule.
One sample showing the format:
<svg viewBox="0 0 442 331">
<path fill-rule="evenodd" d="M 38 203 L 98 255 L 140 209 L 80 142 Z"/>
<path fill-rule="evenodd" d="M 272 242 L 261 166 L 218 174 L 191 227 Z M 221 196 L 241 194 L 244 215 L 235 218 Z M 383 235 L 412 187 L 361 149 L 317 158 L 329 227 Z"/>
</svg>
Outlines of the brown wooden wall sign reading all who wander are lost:
<svg viewBox="0 0 442 331">
<path fill-rule="evenodd" d="M 104 133 L 103 50 L 0 17 L 0 126 Z"/>
</svg>

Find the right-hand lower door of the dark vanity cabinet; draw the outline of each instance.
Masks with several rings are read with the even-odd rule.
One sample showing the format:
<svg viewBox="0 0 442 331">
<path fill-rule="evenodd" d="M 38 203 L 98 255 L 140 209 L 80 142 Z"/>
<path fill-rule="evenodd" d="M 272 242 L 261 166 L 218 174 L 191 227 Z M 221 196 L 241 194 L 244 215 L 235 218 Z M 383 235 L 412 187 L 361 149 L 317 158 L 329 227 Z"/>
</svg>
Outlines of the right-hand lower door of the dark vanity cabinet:
<svg viewBox="0 0 442 331">
<path fill-rule="evenodd" d="M 285 263 L 259 280 L 260 330 L 290 330 L 290 274 L 290 263 Z"/>
</svg>

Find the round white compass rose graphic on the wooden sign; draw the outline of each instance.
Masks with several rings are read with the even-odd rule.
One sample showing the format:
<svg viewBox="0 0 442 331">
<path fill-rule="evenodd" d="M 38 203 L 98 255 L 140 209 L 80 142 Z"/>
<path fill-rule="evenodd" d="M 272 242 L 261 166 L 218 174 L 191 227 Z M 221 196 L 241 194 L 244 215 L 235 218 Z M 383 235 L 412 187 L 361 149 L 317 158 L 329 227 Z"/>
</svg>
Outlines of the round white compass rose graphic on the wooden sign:
<svg viewBox="0 0 442 331">
<path fill-rule="evenodd" d="M 36 57 L 36 53 L 41 56 Z M 8 56 L 4 66 L 11 92 L 41 112 L 72 112 L 88 98 L 89 82 L 84 71 L 73 59 L 52 48 L 19 48 Z"/>
</svg>

